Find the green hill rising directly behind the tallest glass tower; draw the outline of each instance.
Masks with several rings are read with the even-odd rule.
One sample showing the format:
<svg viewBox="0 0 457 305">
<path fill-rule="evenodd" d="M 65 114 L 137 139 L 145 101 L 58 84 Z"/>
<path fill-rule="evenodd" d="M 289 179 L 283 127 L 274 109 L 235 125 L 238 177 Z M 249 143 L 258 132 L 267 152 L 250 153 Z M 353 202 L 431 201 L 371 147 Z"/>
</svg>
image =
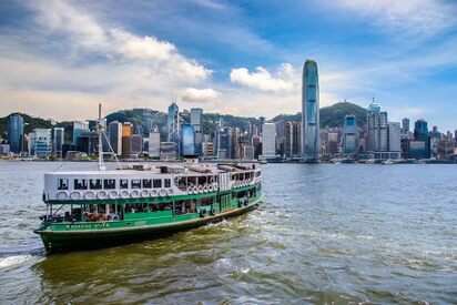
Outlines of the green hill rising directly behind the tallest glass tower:
<svg viewBox="0 0 457 305">
<path fill-rule="evenodd" d="M 321 128 L 342 128 L 344 122 L 344 116 L 346 114 L 354 114 L 359 126 L 366 124 L 367 110 L 359 105 L 349 102 L 339 102 L 329 106 L 321 108 Z M 302 113 L 296 114 L 280 114 L 273 119 L 273 121 L 284 120 L 290 121 L 302 121 Z"/>
</svg>

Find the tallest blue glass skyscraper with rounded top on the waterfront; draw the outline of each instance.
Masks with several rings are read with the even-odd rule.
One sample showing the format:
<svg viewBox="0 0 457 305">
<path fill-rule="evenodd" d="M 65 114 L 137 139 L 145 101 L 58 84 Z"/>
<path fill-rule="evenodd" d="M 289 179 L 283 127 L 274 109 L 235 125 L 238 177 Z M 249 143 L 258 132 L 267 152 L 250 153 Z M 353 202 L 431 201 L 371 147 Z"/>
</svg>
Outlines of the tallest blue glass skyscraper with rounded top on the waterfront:
<svg viewBox="0 0 457 305">
<path fill-rule="evenodd" d="M 303 65 L 302 153 L 305 160 L 319 159 L 319 80 L 317 63 L 307 59 Z"/>
</svg>

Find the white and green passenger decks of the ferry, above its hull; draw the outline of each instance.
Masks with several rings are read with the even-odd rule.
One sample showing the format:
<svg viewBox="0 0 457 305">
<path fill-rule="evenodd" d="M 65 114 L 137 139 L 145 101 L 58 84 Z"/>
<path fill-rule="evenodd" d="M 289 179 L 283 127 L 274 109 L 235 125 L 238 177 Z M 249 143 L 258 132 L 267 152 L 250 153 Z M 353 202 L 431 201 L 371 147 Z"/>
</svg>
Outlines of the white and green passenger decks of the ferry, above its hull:
<svg viewBox="0 0 457 305">
<path fill-rule="evenodd" d="M 136 165 L 130 170 L 44 176 L 48 213 L 40 231 L 158 225 L 247 207 L 262 195 L 261 170 L 247 165 Z"/>
</svg>

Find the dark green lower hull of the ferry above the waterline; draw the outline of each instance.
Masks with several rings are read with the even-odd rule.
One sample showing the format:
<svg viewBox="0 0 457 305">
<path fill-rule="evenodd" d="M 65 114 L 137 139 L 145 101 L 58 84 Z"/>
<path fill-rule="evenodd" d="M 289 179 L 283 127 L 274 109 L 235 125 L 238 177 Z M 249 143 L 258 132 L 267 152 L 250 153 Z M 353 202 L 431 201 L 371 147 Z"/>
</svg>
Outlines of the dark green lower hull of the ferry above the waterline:
<svg viewBox="0 0 457 305">
<path fill-rule="evenodd" d="M 225 211 L 214 216 L 160 225 L 93 231 L 35 230 L 34 233 L 41 236 L 44 247 L 49 253 L 103 248 L 144 240 L 152 240 L 179 231 L 195 228 L 209 223 L 220 222 L 224 218 L 238 216 L 257 209 L 261 202 L 261 199 L 258 199 L 247 206 Z"/>
</svg>

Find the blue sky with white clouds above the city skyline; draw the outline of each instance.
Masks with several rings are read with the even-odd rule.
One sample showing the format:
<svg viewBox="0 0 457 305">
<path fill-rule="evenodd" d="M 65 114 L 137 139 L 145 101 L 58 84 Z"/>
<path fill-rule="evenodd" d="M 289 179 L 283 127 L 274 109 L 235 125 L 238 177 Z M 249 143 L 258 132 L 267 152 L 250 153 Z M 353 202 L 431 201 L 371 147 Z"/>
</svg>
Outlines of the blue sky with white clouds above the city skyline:
<svg viewBox="0 0 457 305">
<path fill-rule="evenodd" d="M 0 116 L 132 108 L 274 118 L 373 98 L 389 120 L 457 129 L 457 1 L 0 1 Z"/>
</svg>

